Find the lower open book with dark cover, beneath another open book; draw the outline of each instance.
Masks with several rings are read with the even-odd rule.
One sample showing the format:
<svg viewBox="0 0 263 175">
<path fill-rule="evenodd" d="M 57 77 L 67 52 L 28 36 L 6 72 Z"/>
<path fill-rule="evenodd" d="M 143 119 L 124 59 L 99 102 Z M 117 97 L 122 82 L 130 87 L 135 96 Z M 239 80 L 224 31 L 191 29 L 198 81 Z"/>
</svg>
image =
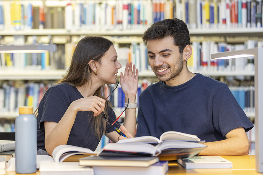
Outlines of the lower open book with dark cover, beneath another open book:
<svg viewBox="0 0 263 175">
<path fill-rule="evenodd" d="M 190 141 L 167 140 L 150 143 L 108 143 L 98 156 L 174 156 L 174 160 L 198 154 L 206 146 Z M 165 159 L 162 159 L 165 160 Z"/>
</svg>

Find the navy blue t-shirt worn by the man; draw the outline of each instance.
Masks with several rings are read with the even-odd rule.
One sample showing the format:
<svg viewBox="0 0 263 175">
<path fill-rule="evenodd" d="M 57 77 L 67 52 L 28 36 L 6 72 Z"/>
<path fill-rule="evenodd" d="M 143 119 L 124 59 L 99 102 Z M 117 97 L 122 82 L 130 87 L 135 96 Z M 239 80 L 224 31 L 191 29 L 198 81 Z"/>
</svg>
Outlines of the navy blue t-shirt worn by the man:
<svg viewBox="0 0 263 175">
<path fill-rule="evenodd" d="M 178 131 L 212 142 L 238 127 L 247 132 L 253 124 L 228 85 L 201 74 L 174 87 L 160 81 L 139 96 L 136 136 L 160 138 L 166 131 Z"/>
</svg>

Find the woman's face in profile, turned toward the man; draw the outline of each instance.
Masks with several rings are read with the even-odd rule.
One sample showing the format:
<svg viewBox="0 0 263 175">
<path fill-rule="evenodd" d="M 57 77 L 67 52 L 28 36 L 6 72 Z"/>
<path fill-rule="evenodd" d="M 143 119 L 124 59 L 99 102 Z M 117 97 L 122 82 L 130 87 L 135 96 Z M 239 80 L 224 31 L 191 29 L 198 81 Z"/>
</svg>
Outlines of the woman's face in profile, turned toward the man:
<svg viewBox="0 0 263 175">
<path fill-rule="evenodd" d="M 117 60 L 117 52 L 114 46 L 110 46 L 109 50 L 101 58 L 101 64 L 98 67 L 98 78 L 104 81 L 104 84 L 115 84 L 118 69 L 122 66 Z"/>
</svg>

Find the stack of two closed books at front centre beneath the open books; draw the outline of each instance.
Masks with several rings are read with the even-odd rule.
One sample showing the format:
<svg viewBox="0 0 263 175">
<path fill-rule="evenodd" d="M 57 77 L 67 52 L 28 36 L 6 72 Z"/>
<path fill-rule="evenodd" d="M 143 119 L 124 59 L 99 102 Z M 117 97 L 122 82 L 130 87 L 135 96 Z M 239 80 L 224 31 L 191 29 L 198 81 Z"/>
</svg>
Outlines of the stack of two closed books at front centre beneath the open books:
<svg viewBox="0 0 263 175">
<path fill-rule="evenodd" d="M 91 155 L 81 158 L 79 164 L 92 166 L 94 174 L 98 175 L 161 175 L 168 171 L 168 161 L 159 161 L 158 157 Z"/>
</svg>

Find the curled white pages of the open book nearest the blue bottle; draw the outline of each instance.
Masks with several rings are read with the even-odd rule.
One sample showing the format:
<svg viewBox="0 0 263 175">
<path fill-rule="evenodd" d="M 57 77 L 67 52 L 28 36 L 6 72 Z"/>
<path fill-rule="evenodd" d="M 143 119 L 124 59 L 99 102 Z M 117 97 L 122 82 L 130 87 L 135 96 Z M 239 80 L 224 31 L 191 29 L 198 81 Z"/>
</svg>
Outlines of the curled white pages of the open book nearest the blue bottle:
<svg viewBox="0 0 263 175">
<path fill-rule="evenodd" d="M 68 153 L 68 152 L 74 152 L 74 153 Z M 68 154 L 62 156 L 65 153 Z M 55 162 L 62 162 L 63 160 L 65 160 L 67 157 L 71 155 L 81 154 L 81 153 L 95 154 L 94 151 L 90 150 L 89 148 L 82 148 L 72 145 L 59 145 L 53 150 L 52 155 Z"/>
</svg>

